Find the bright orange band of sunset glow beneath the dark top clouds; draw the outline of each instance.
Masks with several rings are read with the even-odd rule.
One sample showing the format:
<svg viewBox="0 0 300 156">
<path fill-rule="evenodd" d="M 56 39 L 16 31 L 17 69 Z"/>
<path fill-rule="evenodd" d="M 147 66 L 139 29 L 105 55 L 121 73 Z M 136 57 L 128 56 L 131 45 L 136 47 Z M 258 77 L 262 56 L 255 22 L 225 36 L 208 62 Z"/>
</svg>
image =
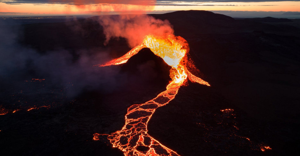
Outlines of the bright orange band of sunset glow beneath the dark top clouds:
<svg viewBox="0 0 300 156">
<path fill-rule="evenodd" d="M 84 0 L 73 4 L 6 4 L 0 2 L 0 15 L 55 15 L 55 14 L 130 14 L 168 10 L 233 10 L 233 11 L 300 11 L 300 1 L 279 2 L 204 2 L 167 3 L 154 6 L 155 1 L 127 1 L 127 4 L 111 4 L 112 0 L 95 0 L 95 4 L 84 5 Z M 55 1 L 54 1 L 55 2 Z M 116 2 L 116 1 L 113 1 Z M 117 1 L 118 2 L 118 1 Z M 121 1 L 120 1 L 121 2 Z M 178 4 L 182 6 L 178 6 Z M 193 4 L 193 5 L 190 5 Z M 189 6 L 187 6 L 189 5 Z M 2 13 L 1 13 L 2 12 Z"/>
</svg>

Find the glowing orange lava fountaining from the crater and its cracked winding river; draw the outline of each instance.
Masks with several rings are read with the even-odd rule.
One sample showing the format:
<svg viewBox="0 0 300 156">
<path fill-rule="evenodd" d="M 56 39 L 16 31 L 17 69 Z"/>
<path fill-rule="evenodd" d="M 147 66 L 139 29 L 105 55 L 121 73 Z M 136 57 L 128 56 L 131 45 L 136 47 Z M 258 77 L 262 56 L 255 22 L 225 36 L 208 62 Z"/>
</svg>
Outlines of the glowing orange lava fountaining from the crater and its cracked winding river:
<svg viewBox="0 0 300 156">
<path fill-rule="evenodd" d="M 147 123 L 151 116 L 160 106 L 168 104 L 173 100 L 179 88 L 185 84 L 186 79 L 189 78 L 192 82 L 205 84 L 210 86 L 208 82 L 201 78 L 194 76 L 187 70 L 187 52 L 189 52 L 189 45 L 187 41 L 172 34 L 165 34 L 163 37 L 156 35 L 147 35 L 143 42 L 134 47 L 128 53 L 120 58 L 99 65 L 100 67 L 123 64 L 128 59 L 137 54 L 143 48 L 150 48 L 150 50 L 157 56 L 164 59 L 170 65 L 170 78 L 172 81 L 167 85 L 167 90 L 161 92 L 156 98 L 144 103 L 135 104 L 128 108 L 125 115 L 125 125 L 120 131 L 111 133 L 107 136 L 113 147 L 117 147 L 124 152 L 124 155 L 178 155 L 173 150 L 159 143 L 152 138 L 147 132 Z M 102 134 L 95 133 L 94 140 L 99 140 Z"/>
</svg>

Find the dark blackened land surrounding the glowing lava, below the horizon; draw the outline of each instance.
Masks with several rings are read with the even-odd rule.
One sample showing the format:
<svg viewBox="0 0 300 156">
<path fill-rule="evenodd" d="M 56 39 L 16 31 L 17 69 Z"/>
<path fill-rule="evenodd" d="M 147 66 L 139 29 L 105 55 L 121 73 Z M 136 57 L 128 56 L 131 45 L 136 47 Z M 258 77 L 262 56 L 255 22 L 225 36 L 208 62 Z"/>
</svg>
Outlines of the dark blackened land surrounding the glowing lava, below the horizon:
<svg viewBox="0 0 300 156">
<path fill-rule="evenodd" d="M 175 35 L 188 41 L 198 76 L 211 84 L 189 82 L 158 108 L 148 125 L 153 138 L 183 156 L 298 153 L 300 20 L 233 19 L 207 11 L 152 16 L 168 19 Z M 86 72 L 97 63 L 83 61 L 91 66 L 73 70 L 83 52 L 93 58 L 107 50 L 116 58 L 130 50 L 122 38 L 104 46 L 95 19 L 11 28 L 17 32 L 17 51 L 55 61 L 20 62 L 16 57 L 26 55 L 19 53 L 13 56 L 16 62 L 1 60 L 11 68 L 1 71 L 0 155 L 123 155 L 105 139 L 93 141 L 93 134 L 121 129 L 128 106 L 165 89 L 168 67 L 144 49 L 112 69 Z M 67 53 L 71 61 L 61 63 L 61 55 L 51 55 L 54 51 Z M 41 56 L 38 60 L 47 60 Z M 45 71 L 44 64 L 63 72 Z M 69 71 L 75 74 L 64 75 Z M 263 152 L 262 146 L 271 150 Z"/>
</svg>

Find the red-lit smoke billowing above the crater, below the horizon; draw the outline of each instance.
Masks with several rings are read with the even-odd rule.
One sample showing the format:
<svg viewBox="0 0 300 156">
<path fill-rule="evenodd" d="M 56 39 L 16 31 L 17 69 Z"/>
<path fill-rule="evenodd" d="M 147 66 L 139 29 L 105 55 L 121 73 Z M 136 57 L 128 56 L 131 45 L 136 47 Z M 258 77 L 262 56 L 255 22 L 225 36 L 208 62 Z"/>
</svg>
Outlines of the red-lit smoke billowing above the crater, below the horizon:
<svg viewBox="0 0 300 156">
<path fill-rule="evenodd" d="M 105 44 L 112 38 L 126 38 L 129 47 L 133 48 L 149 34 L 162 36 L 174 33 L 173 26 L 167 20 L 156 19 L 145 14 L 100 16 L 99 23 L 103 26 L 106 36 Z"/>
</svg>

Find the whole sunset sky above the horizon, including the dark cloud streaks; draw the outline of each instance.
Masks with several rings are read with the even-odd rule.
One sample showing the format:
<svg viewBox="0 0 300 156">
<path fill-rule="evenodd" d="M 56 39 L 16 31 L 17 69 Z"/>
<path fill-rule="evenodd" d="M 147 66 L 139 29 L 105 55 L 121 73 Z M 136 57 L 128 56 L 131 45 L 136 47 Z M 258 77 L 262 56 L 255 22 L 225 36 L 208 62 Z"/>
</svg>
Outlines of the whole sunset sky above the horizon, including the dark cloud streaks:
<svg viewBox="0 0 300 156">
<path fill-rule="evenodd" d="M 0 0 L 0 15 L 104 15 L 175 10 L 300 12 L 300 0 Z"/>
</svg>

